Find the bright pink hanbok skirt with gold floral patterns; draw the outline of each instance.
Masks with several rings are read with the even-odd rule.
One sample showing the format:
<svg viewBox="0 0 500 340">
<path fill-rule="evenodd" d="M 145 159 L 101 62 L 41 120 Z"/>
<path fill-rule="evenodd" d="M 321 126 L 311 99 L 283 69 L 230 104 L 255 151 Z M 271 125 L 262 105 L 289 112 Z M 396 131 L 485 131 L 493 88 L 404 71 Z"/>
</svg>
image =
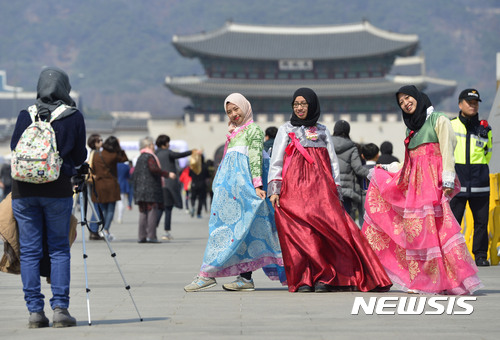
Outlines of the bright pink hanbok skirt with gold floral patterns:
<svg viewBox="0 0 500 340">
<path fill-rule="evenodd" d="M 431 294 L 471 294 L 483 287 L 442 190 L 439 144 L 409 151 L 403 168 L 375 168 L 363 234 L 396 287 Z M 455 195 L 460 183 L 455 179 Z"/>
</svg>

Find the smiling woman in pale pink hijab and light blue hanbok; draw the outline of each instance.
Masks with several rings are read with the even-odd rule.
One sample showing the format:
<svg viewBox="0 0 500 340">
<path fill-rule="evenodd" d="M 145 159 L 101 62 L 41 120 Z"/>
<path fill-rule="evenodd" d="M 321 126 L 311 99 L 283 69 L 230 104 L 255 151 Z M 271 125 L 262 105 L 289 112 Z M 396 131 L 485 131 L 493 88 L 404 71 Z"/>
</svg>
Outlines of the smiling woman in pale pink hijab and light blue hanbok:
<svg viewBox="0 0 500 340">
<path fill-rule="evenodd" d="M 187 292 L 211 288 L 216 277 L 234 275 L 225 290 L 254 290 L 252 272 L 259 268 L 270 279 L 285 282 L 274 212 L 263 185 L 269 164 L 262 152 L 264 133 L 243 95 L 230 94 L 224 110 L 229 135 L 213 181 L 208 242 L 199 274 L 184 287 Z"/>
</svg>

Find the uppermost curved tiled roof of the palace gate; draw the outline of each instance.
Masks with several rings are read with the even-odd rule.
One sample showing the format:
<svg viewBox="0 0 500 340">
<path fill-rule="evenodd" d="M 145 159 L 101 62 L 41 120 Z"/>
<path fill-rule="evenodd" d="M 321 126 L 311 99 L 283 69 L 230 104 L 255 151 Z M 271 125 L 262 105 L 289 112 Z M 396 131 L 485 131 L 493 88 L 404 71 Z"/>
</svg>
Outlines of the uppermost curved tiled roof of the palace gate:
<svg viewBox="0 0 500 340">
<path fill-rule="evenodd" d="M 222 28 L 174 36 L 186 57 L 333 60 L 386 54 L 412 55 L 418 36 L 374 27 L 367 21 L 338 26 L 255 26 L 232 22 Z"/>
</svg>

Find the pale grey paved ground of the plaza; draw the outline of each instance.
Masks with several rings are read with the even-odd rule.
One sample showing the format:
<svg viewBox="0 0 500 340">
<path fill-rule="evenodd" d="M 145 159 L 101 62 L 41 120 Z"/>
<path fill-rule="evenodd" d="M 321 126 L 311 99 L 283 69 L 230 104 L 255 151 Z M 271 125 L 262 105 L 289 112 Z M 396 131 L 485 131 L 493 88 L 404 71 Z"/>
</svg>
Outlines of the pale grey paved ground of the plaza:
<svg viewBox="0 0 500 340">
<path fill-rule="evenodd" d="M 78 215 L 79 216 L 79 215 Z M 351 315 L 355 297 L 408 297 L 388 293 L 292 294 L 254 274 L 256 291 L 226 292 L 217 286 L 186 293 L 184 285 L 197 274 L 208 236 L 208 216 L 191 218 L 173 212 L 174 240 L 138 244 L 138 214 L 125 211 L 122 224 L 113 223 L 116 259 L 143 318 L 139 321 L 120 273 L 103 241 L 86 241 L 91 292 L 88 325 L 81 229 L 72 248 L 70 312 L 78 326 L 67 329 L 28 329 L 21 278 L 0 273 L 1 339 L 498 339 L 500 266 L 480 268 L 485 288 L 478 292 L 471 315 Z M 158 228 L 162 235 L 163 221 Z M 88 233 L 86 232 L 88 236 Z M 1 242 L 0 242 L 1 243 Z M 42 284 L 49 319 L 50 286 Z M 430 297 L 430 296 L 429 296 Z"/>
</svg>

